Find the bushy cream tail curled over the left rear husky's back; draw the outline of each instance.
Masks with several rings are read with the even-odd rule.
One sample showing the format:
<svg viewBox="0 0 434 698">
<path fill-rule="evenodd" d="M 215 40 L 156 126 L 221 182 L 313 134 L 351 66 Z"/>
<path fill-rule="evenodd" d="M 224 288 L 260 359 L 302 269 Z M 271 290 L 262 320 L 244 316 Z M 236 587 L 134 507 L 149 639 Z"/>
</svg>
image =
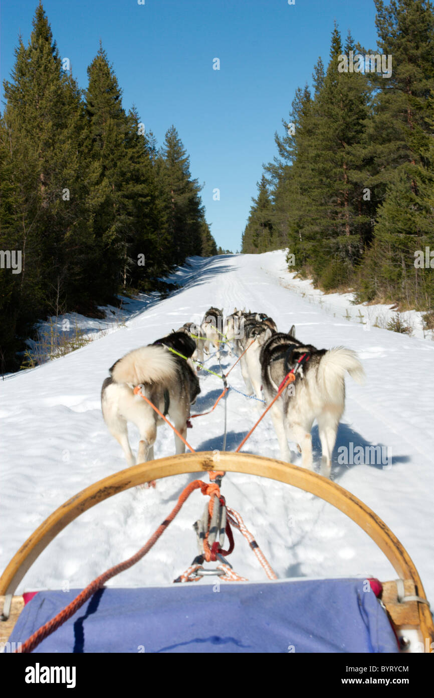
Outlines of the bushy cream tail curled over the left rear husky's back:
<svg viewBox="0 0 434 698">
<path fill-rule="evenodd" d="M 176 377 L 176 359 L 163 346 L 140 347 L 119 359 L 111 377 L 116 383 L 130 385 L 172 380 Z"/>
</svg>

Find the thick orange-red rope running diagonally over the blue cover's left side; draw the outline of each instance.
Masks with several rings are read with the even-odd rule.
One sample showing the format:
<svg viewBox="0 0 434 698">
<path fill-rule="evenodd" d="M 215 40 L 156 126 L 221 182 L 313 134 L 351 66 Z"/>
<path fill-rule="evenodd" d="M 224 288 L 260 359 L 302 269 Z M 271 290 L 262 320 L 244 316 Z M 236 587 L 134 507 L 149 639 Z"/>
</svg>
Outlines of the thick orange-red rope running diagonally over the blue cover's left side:
<svg viewBox="0 0 434 698">
<path fill-rule="evenodd" d="M 60 628 L 65 621 L 68 621 L 68 618 L 73 616 L 79 608 L 83 606 L 84 603 L 90 598 L 95 591 L 98 591 L 106 581 L 111 579 L 111 577 L 116 577 L 116 574 L 120 574 L 120 572 L 124 572 L 125 570 L 128 570 L 132 565 L 135 565 L 135 563 L 139 562 L 141 558 L 143 558 L 153 547 L 153 545 L 157 542 L 157 540 L 160 538 L 160 535 L 164 533 L 166 530 L 167 526 L 169 526 L 169 523 L 173 521 L 173 519 L 176 517 L 176 514 L 178 514 L 180 508 L 183 506 L 185 503 L 185 500 L 190 496 L 190 494 L 195 490 L 195 489 L 201 489 L 201 492 L 203 495 L 208 495 L 212 497 L 213 495 L 220 496 L 220 489 L 215 482 L 210 482 L 206 483 L 203 482 L 202 480 L 194 480 L 193 482 L 190 482 L 187 484 L 187 487 L 181 492 L 179 498 L 178 498 L 178 503 L 176 504 L 176 507 L 173 508 L 169 516 L 164 519 L 163 523 L 158 526 L 157 530 L 155 533 L 150 537 L 148 542 L 142 547 L 135 555 L 133 555 L 131 558 L 128 558 L 128 560 L 125 560 L 123 563 L 119 563 L 118 565 L 115 565 L 114 567 L 111 567 L 107 572 L 104 572 L 103 574 L 100 574 L 100 577 L 97 577 L 93 581 L 91 581 L 91 584 L 88 584 L 86 588 L 79 593 L 78 596 L 75 597 L 73 601 L 68 604 L 64 609 L 59 611 L 59 613 L 52 618 L 51 621 L 48 621 L 48 623 L 45 623 L 45 625 L 42 625 L 39 630 L 36 630 L 36 632 L 33 632 L 31 637 L 27 639 L 24 644 L 22 645 L 21 652 L 22 653 L 30 653 L 32 652 L 41 642 L 45 637 L 48 637 L 49 635 L 54 632 L 54 630 L 57 630 L 57 628 Z"/>
</svg>

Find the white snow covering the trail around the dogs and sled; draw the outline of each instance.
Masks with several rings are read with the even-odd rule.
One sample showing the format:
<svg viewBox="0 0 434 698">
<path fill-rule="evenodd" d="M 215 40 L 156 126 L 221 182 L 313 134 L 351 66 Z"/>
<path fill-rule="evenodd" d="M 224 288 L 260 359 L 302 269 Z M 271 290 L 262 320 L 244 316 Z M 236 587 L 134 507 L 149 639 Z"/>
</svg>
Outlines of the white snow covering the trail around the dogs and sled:
<svg viewBox="0 0 434 698">
<path fill-rule="evenodd" d="M 432 450 L 434 344 L 355 322 L 343 322 L 281 285 L 284 253 L 192 258 L 171 274 L 181 290 L 148 310 L 136 311 L 125 327 L 83 348 L 1 383 L 0 568 L 24 540 L 65 500 L 102 477 L 126 467 L 121 447 L 110 436 L 100 410 L 100 389 L 108 368 L 127 351 L 201 320 L 210 306 L 268 313 L 281 331 L 294 323 L 299 339 L 318 348 L 346 346 L 359 353 L 366 385 L 346 380 L 346 412 L 339 426 L 332 479 L 382 518 L 408 550 L 434 602 Z M 143 307 L 143 306 L 142 306 Z M 235 359 L 223 352 L 222 366 Z M 206 364 L 218 371 L 215 359 Z M 222 390 L 217 376 L 201 371 L 201 394 L 192 412 L 210 409 Z M 245 392 L 239 367 L 229 378 Z M 261 403 L 229 392 L 227 450 L 235 450 L 263 410 Z M 223 401 L 211 415 L 194 420 L 187 440 L 196 450 L 222 448 Z M 130 440 L 137 450 L 137 431 Z M 392 449 L 389 466 L 338 463 L 338 447 L 382 445 Z M 265 417 L 244 452 L 279 459 L 271 419 Z M 158 429 L 155 457 L 173 454 L 173 433 Z M 318 467 L 318 429 L 313 427 Z M 300 463 L 294 454 L 293 462 Z M 18 587 L 82 588 L 112 565 L 134 554 L 171 511 L 183 487 L 196 476 L 159 480 L 155 489 L 134 488 L 82 514 L 49 544 Z M 201 475 L 199 475 L 201 477 Z M 395 579 L 380 549 L 344 514 L 309 493 L 273 480 L 228 473 L 222 493 L 240 512 L 265 556 L 284 577 L 340 577 L 354 574 Z M 198 493 L 187 500 L 175 521 L 144 560 L 109 581 L 111 586 L 171 584 L 196 556 L 192 523 L 205 503 Z M 265 574 L 245 539 L 235 531 L 229 558 L 250 581 Z M 215 578 L 199 584 L 215 584 Z M 224 589 L 222 583 L 221 589 Z"/>
</svg>

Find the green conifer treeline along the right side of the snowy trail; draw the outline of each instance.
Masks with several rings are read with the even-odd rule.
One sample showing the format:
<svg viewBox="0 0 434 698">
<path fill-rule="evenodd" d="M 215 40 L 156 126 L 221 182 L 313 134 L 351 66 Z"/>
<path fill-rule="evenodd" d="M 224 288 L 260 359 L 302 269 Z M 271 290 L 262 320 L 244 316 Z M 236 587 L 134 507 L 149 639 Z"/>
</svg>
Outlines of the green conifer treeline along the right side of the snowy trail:
<svg viewBox="0 0 434 698">
<path fill-rule="evenodd" d="M 375 6 L 378 52 L 335 26 L 327 70 L 319 59 L 312 91 L 297 89 L 242 251 L 288 247 L 323 290 L 433 311 L 433 5 Z"/>
</svg>

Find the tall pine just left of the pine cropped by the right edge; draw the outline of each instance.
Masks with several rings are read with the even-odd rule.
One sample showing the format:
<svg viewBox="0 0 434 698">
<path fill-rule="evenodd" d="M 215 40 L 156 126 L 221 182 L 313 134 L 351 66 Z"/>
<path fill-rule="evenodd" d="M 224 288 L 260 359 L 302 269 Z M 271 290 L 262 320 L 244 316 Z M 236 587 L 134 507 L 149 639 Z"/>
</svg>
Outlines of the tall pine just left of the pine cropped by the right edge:
<svg viewBox="0 0 434 698">
<path fill-rule="evenodd" d="M 349 34 L 348 52 L 352 45 Z M 313 274 L 326 289 L 348 283 L 362 256 L 361 228 L 366 223 L 359 205 L 362 183 L 357 181 L 360 163 L 354 146 L 363 138 L 367 86 L 362 74 L 339 71 L 341 55 L 341 36 L 335 26 L 330 64 L 312 110 L 316 157 L 309 186 L 310 223 L 305 231 L 312 241 Z"/>
</svg>

